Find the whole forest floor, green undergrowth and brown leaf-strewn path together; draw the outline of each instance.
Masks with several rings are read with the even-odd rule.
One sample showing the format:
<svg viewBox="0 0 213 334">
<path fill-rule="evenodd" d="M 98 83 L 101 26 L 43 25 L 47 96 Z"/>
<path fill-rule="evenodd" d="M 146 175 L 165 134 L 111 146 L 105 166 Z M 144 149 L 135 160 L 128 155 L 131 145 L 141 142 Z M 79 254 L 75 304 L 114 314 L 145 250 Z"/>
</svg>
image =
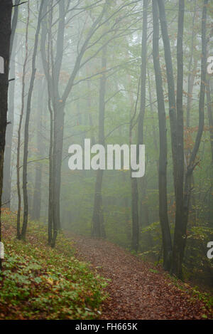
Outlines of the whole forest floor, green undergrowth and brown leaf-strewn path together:
<svg viewBox="0 0 213 334">
<path fill-rule="evenodd" d="M 47 226 L 29 221 L 18 241 L 6 210 L 2 227 L 0 320 L 213 318 L 209 296 L 107 240 L 61 231 L 51 249 Z"/>
</svg>

